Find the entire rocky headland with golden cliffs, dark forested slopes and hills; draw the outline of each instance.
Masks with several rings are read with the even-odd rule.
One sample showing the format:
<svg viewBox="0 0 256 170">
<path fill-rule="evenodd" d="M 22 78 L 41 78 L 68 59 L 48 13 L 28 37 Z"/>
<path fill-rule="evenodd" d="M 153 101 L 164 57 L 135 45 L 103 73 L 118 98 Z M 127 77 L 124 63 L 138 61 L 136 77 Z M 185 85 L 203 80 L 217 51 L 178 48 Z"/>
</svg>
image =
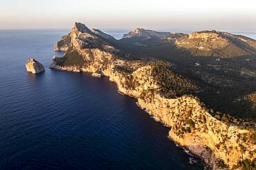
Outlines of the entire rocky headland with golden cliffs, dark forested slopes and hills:
<svg viewBox="0 0 256 170">
<path fill-rule="evenodd" d="M 64 56 L 54 56 L 51 68 L 109 77 L 212 169 L 255 167 L 255 39 L 144 28 L 115 39 L 75 23 L 55 50 Z"/>
</svg>

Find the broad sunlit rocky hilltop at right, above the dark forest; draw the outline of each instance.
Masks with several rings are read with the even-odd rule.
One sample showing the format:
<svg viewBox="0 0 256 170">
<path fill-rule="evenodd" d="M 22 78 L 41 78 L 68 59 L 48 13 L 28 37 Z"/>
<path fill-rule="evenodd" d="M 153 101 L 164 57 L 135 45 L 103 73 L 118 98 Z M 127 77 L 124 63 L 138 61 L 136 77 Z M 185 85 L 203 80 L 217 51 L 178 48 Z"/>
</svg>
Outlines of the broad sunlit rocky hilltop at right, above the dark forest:
<svg viewBox="0 0 256 170">
<path fill-rule="evenodd" d="M 190 34 L 172 34 L 167 37 L 179 48 L 190 50 L 196 56 L 235 57 L 256 54 L 256 41 L 228 32 L 203 30 Z"/>
</svg>

